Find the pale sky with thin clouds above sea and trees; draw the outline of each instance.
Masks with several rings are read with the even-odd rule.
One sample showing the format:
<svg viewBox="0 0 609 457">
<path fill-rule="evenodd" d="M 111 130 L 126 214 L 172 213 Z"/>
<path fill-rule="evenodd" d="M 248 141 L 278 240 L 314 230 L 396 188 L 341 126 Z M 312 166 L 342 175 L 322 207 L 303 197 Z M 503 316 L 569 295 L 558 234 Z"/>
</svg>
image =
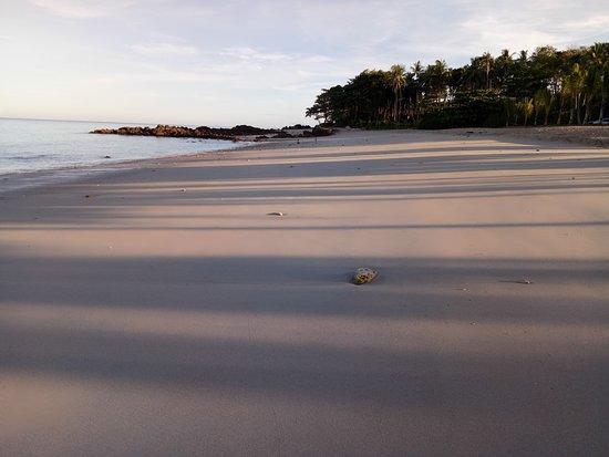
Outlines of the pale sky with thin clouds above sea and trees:
<svg viewBox="0 0 609 457">
<path fill-rule="evenodd" d="M 0 0 L 0 116 L 308 122 L 364 69 L 609 41 L 609 0 Z"/>
</svg>

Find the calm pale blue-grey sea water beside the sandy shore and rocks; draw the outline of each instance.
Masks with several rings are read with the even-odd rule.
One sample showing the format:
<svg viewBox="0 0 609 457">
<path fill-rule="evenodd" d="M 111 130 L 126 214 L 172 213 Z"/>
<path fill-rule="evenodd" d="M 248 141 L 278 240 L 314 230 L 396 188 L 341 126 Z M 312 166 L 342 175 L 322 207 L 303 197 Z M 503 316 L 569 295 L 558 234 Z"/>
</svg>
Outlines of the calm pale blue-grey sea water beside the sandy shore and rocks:
<svg viewBox="0 0 609 457">
<path fill-rule="evenodd" d="M 239 146 L 233 142 L 217 139 L 89 133 L 95 128 L 118 126 L 121 125 L 80 121 L 0 118 L 0 175 L 112 164 Z M 111 158 L 104 158 L 105 156 Z"/>
</svg>

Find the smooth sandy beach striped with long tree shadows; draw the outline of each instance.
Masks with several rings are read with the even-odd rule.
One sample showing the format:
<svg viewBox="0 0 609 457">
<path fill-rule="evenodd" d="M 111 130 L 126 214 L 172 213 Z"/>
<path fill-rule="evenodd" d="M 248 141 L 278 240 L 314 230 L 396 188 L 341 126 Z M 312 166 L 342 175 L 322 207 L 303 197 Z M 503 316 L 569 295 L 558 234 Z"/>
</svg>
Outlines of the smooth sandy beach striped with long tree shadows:
<svg viewBox="0 0 609 457">
<path fill-rule="evenodd" d="M 353 131 L 4 194 L 1 454 L 607 455 L 608 190 Z"/>
</svg>

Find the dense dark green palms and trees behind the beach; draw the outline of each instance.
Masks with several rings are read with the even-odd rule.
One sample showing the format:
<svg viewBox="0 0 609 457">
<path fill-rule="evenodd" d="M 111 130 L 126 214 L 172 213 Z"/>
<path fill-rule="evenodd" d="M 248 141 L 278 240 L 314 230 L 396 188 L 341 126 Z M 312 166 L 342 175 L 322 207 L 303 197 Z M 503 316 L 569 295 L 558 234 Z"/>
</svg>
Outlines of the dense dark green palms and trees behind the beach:
<svg viewBox="0 0 609 457">
<path fill-rule="evenodd" d="M 472 58 L 451 69 L 436 60 L 410 71 L 364 70 L 324 89 L 306 112 L 324 124 L 365 128 L 581 125 L 608 115 L 609 43 L 551 46 Z"/>
</svg>

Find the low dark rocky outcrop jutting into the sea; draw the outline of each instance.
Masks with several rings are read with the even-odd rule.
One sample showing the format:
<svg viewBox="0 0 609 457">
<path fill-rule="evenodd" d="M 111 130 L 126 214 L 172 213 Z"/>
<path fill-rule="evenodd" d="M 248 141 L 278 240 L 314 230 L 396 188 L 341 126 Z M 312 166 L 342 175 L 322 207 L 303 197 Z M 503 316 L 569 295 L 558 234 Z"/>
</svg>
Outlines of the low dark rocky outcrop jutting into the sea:
<svg viewBox="0 0 609 457">
<path fill-rule="evenodd" d="M 136 136 L 166 136 L 172 138 L 200 138 L 200 139 L 228 139 L 237 141 L 239 136 L 261 135 L 277 131 L 252 127 L 250 125 L 236 125 L 233 128 L 213 128 L 200 126 L 196 128 L 157 125 L 156 127 L 120 127 L 99 128 L 91 133 L 102 135 L 136 135 Z"/>
</svg>

